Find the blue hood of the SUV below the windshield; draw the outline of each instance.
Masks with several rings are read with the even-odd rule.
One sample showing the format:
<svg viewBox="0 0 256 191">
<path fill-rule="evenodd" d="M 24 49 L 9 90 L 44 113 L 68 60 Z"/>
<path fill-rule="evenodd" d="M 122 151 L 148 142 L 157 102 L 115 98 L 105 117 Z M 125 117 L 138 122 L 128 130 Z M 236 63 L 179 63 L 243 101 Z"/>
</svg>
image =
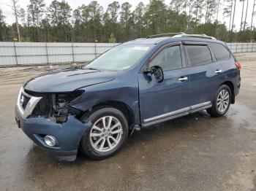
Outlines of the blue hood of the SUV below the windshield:
<svg viewBox="0 0 256 191">
<path fill-rule="evenodd" d="M 116 74 L 116 71 L 61 69 L 29 79 L 24 88 L 37 93 L 70 92 L 80 87 L 111 81 Z"/>
</svg>

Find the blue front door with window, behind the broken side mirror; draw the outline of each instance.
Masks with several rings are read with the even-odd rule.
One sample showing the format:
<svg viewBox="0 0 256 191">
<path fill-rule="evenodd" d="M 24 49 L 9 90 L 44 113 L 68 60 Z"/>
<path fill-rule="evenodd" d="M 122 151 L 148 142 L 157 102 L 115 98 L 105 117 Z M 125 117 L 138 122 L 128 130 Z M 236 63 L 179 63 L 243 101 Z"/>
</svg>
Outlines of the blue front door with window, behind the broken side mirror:
<svg viewBox="0 0 256 191">
<path fill-rule="evenodd" d="M 140 117 L 143 126 L 188 113 L 190 83 L 187 70 L 182 68 L 184 53 L 181 50 L 181 43 L 167 44 L 149 60 L 149 68 L 162 68 L 162 82 L 156 82 L 154 74 L 139 74 Z"/>
</svg>

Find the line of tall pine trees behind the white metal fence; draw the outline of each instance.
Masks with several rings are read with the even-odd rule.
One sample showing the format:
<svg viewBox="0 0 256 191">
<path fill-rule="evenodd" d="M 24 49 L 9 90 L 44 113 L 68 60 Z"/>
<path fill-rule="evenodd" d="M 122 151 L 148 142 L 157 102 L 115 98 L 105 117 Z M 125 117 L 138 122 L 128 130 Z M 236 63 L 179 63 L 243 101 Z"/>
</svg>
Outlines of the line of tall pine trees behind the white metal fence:
<svg viewBox="0 0 256 191">
<path fill-rule="evenodd" d="M 0 9 L 0 41 L 125 42 L 152 34 L 185 32 L 207 34 L 225 42 L 254 42 L 255 1 L 242 1 L 241 25 L 234 25 L 237 0 L 150 0 L 132 9 L 113 1 L 106 10 L 97 2 L 72 10 L 67 1 L 30 0 L 26 9 L 12 1 L 15 23 L 7 25 Z M 252 6 L 252 12 L 248 7 Z M 222 14 L 220 14 L 222 13 Z M 248 20 L 251 14 L 252 19 Z M 222 22 L 227 18 L 228 23 Z M 240 30 L 235 31 L 235 27 Z"/>
</svg>

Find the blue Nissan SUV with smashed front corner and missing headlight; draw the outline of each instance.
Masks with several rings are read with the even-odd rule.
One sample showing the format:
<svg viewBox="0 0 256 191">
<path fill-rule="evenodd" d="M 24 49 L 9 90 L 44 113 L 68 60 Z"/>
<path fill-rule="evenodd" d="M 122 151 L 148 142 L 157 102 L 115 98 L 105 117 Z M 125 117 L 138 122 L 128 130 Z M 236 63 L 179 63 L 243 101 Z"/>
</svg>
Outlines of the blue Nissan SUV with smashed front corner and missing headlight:
<svg viewBox="0 0 256 191">
<path fill-rule="evenodd" d="M 211 36 L 148 36 L 113 47 L 86 66 L 29 79 L 15 119 L 59 160 L 75 160 L 78 149 L 104 159 L 135 128 L 203 109 L 222 116 L 235 103 L 240 69 L 225 43 Z"/>
</svg>

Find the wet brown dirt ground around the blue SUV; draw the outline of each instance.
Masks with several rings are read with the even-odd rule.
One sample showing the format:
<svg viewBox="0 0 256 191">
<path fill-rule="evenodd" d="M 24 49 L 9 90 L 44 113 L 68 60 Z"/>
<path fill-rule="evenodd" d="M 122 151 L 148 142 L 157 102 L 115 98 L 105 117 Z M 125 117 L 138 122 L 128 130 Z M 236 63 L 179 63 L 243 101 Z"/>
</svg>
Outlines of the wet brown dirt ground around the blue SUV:
<svg viewBox="0 0 256 191">
<path fill-rule="evenodd" d="M 107 160 L 72 163 L 34 146 L 14 117 L 23 81 L 57 66 L 0 69 L 0 190 L 256 190 L 256 53 L 236 57 L 241 90 L 225 117 L 181 117 L 135 132 Z"/>
</svg>

